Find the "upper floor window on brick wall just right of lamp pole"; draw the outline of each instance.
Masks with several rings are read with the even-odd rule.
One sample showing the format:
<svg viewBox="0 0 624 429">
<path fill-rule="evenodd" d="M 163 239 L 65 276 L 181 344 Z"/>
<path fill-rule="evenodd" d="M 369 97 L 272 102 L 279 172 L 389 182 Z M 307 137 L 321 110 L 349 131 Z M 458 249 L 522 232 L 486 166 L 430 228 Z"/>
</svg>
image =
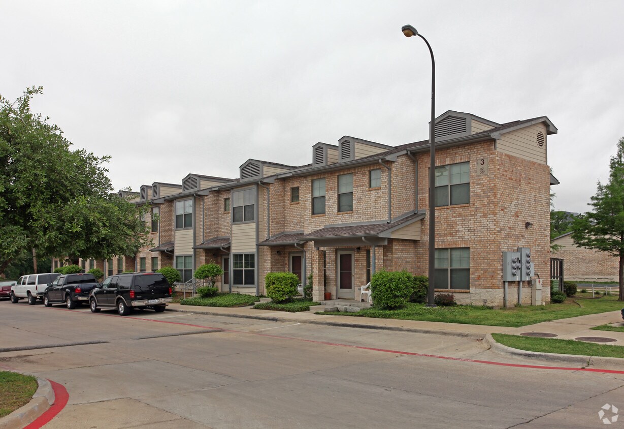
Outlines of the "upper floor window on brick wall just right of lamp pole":
<svg viewBox="0 0 624 429">
<path fill-rule="evenodd" d="M 470 163 L 436 167 L 436 207 L 470 202 Z"/>
</svg>

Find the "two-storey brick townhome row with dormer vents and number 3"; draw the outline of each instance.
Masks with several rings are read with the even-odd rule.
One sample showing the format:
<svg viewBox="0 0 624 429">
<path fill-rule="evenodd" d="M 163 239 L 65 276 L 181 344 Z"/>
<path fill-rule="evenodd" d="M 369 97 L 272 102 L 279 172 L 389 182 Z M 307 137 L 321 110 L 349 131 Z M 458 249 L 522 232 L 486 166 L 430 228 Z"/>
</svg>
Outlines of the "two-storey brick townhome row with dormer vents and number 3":
<svg viewBox="0 0 624 429">
<path fill-rule="evenodd" d="M 529 247 L 548 302 L 550 185 L 545 117 L 498 124 L 447 111 L 436 119 L 436 291 L 502 305 L 502 252 Z M 155 247 L 137 270 L 173 266 L 185 280 L 216 262 L 223 291 L 265 293 L 268 272 L 313 276 L 313 298 L 359 300 L 377 270 L 427 274 L 429 141 L 391 146 L 344 136 L 311 163 L 248 159 L 237 179 L 189 174 L 141 187 Z M 149 220 L 147 220 L 149 221 Z M 131 262 L 127 260 L 126 262 Z M 527 284 L 524 284 L 524 288 Z M 517 282 L 509 284 L 517 302 Z M 530 303 L 530 293 L 522 303 Z"/>
</svg>

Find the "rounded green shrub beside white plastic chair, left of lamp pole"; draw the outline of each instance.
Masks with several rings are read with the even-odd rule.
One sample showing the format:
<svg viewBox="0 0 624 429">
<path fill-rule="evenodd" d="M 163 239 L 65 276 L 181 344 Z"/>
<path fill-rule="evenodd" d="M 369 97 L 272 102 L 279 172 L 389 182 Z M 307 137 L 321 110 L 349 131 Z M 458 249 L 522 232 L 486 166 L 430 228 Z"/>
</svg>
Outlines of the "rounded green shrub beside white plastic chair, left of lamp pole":
<svg viewBox="0 0 624 429">
<path fill-rule="evenodd" d="M 378 271 L 371 277 L 374 307 L 394 310 L 405 307 L 412 295 L 414 277 L 407 271 Z"/>
</svg>

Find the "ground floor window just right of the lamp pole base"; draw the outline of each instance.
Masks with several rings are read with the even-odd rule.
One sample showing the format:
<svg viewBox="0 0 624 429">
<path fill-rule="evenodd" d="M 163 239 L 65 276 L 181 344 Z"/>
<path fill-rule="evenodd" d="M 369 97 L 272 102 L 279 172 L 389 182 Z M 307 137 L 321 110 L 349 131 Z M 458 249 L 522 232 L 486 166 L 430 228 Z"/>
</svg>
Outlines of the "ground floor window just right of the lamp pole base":
<svg viewBox="0 0 624 429">
<path fill-rule="evenodd" d="M 470 249 L 436 249 L 436 289 L 470 289 Z"/>
</svg>

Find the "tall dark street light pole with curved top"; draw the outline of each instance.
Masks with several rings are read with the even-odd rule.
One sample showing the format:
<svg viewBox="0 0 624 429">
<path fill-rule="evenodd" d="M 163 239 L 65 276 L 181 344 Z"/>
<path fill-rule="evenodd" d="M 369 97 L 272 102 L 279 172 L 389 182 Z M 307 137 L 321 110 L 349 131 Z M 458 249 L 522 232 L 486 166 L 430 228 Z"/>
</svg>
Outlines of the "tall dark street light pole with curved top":
<svg viewBox="0 0 624 429">
<path fill-rule="evenodd" d="M 433 50 L 427 39 L 422 37 L 416 29 L 410 25 L 401 28 L 406 37 L 418 36 L 425 41 L 431 54 L 431 122 L 429 122 L 429 288 L 427 290 L 427 307 L 436 307 L 434 303 L 434 291 L 436 288 L 436 135 L 434 120 L 436 119 L 436 60 Z"/>
</svg>

